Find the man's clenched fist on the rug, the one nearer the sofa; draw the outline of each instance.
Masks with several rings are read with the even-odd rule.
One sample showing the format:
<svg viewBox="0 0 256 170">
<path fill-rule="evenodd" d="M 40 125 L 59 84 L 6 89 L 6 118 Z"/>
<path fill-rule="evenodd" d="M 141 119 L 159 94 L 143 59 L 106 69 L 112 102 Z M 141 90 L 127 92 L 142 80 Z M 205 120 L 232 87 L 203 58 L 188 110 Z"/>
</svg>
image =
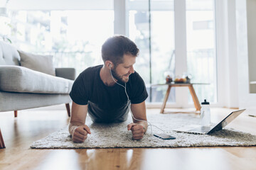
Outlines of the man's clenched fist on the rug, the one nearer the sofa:
<svg viewBox="0 0 256 170">
<path fill-rule="evenodd" d="M 87 125 L 81 125 L 78 128 L 75 129 L 75 132 L 73 133 L 72 140 L 73 142 L 82 143 L 85 142 L 87 139 L 87 135 L 91 134 L 90 128 L 87 127 Z"/>
</svg>

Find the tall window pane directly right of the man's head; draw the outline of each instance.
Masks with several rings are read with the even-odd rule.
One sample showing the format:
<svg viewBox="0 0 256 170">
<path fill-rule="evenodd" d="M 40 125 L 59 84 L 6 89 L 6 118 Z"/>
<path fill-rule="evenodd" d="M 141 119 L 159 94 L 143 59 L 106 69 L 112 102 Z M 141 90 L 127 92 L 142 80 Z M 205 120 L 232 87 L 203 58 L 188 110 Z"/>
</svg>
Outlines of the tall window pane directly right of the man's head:
<svg viewBox="0 0 256 170">
<path fill-rule="evenodd" d="M 140 49 L 135 69 L 144 78 L 149 93 L 147 101 L 163 101 L 166 74 L 174 75 L 174 1 L 127 1 L 129 37 Z M 149 9 L 150 8 L 150 9 Z M 150 21 L 150 22 L 149 22 Z M 175 101 L 171 91 L 169 101 Z"/>
</svg>

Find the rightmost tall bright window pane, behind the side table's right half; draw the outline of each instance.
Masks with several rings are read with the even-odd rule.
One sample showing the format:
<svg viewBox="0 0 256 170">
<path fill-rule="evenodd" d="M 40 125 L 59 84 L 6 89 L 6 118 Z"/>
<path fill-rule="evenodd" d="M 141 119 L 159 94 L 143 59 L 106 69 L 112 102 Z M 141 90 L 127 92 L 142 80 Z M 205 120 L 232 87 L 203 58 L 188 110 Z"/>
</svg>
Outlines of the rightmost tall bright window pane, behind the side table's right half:
<svg viewBox="0 0 256 170">
<path fill-rule="evenodd" d="M 193 82 L 209 84 L 194 85 L 199 101 L 217 101 L 214 9 L 213 0 L 186 0 L 187 72 Z"/>
</svg>

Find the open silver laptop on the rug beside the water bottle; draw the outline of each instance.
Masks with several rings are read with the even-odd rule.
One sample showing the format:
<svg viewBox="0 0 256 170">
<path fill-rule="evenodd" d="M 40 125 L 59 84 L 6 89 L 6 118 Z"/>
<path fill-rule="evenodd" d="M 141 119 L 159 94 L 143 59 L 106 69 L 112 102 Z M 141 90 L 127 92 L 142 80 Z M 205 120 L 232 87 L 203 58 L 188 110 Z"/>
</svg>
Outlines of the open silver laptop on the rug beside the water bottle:
<svg viewBox="0 0 256 170">
<path fill-rule="evenodd" d="M 217 125 L 213 126 L 202 126 L 202 125 L 188 125 L 182 128 L 178 128 L 174 131 L 176 132 L 187 132 L 193 134 L 210 134 L 212 132 L 222 130 L 228 123 L 232 122 L 235 118 L 238 117 L 245 109 L 233 111 L 227 117 L 220 121 Z"/>
</svg>

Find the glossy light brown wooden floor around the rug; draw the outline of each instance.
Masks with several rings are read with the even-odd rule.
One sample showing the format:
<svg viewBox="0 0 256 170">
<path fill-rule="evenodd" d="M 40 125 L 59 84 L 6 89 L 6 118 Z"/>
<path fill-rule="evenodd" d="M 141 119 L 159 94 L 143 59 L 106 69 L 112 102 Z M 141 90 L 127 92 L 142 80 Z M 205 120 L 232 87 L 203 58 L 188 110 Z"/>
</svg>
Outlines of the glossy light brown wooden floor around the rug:
<svg viewBox="0 0 256 170">
<path fill-rule="evenodd" d="M 218 122 L 230 109 L 212 108 Z M 159 113 L 147 109 L 147 114 Z M 159 113 L 160 114 L 160 113 Z M 169 113 L 170 114 L 170 113 Z M 0 149 L 0 169 L 256 169 L 256 147 L 190 147 L 128 149 L 31 149 L 36 140 L 68 125 L 62 111 L 0 113 L 6 149 Z M 230 128 L 256 135 L 256 118 L 242 113 Z"/>
</svg>

